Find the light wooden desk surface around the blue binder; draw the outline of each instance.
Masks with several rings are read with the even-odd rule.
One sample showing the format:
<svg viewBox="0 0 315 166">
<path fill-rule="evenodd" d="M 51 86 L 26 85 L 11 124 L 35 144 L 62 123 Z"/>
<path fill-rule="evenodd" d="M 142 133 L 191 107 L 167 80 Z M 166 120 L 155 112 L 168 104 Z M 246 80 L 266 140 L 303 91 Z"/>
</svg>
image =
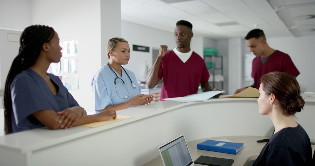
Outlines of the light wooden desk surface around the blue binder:
<svg viewBox="0 0 315 166">
<path fill-rule="evenodd" d="M 258 143 L 257 140 L 262 140 L 265 138 L 270 138 L 266 136 L 223 136 L 223 137 L 212 137 L 206 139 L 200 139 L 195 141 L 187 142 L 188 149 L 192 156 L 192 161 L 195 161 L 199 156 L 211 156 L 218 158 L 228 158 L 233 159 L 234 162 L 232 166 L 241 166 L 246 165 L 249 161 L 255 160 L 261 149 L 266 145 L 266 142 Z M 197 144 L 206 140 L 219 140 L 219 139 L 228 139 L 233 142 L 244 143 L 244 148 L 238 152 L 238 154 L 227 154 L 220 152 L 212 152 L 206 150 L 197 149 Z M 312 150 L 314 151 L 315 146 L 312 145 Z M 158 150 L 158 149 L 157 149 Z M 150 162 L 144 164 L 144 166 L 164 166 L 161 156 L 154 158 Z"/>
</svg>

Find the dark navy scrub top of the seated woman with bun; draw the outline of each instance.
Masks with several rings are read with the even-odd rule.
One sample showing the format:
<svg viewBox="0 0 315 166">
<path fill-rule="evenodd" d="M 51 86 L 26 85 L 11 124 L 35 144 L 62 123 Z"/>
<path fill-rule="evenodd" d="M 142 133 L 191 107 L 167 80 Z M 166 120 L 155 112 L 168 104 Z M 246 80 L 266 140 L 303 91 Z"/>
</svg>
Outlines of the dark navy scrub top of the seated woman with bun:
<svg viewBox="0 0 315 166">
<path fill-rule="evenodd" d="M 300 124 L 272 135 L 261 150 L 254 166 L 312 165 L 311 141 Z"/>
</svg>

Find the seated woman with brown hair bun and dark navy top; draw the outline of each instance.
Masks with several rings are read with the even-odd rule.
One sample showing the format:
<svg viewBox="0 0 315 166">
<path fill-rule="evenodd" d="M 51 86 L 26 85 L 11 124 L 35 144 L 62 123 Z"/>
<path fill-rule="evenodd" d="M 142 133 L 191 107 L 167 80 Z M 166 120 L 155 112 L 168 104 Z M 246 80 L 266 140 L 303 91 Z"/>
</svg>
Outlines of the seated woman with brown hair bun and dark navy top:
<svg viewBox="0 0 315 166">
<path fill-rule="evenodd" d="M 261 77 L 259 113 L 268 115 L 274 134 L 253 165 L 311 165 L 311 142 L 294 114 L 301 112 L 304 100 L 299 83 L 284 72 L 270 72 Z"/>
</svg>

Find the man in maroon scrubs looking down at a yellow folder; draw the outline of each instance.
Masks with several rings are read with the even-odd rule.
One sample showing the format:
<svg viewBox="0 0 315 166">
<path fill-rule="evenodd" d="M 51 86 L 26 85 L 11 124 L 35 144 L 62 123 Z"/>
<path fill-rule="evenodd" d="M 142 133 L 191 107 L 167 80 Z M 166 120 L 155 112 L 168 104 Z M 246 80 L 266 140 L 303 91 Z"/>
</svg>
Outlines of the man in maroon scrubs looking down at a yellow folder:
<svg viewBox="0 0 315 166">
<path fill-rule="evenodd" d="M 268 46 L 264 31 L 260 29 L 251 30 L 245 36 L 245 39 L 247 40 L 250 52 L 256 56 L 252 64 L 252 77 L 254 78 L 252 87 L 259 89 L 260 78 L 272 71 L 286 72 L 293 77 L 300 74 L 288 54 L 274 50 Z M 235 94 L 246 88 L 236 90 Z"/>
</svg>

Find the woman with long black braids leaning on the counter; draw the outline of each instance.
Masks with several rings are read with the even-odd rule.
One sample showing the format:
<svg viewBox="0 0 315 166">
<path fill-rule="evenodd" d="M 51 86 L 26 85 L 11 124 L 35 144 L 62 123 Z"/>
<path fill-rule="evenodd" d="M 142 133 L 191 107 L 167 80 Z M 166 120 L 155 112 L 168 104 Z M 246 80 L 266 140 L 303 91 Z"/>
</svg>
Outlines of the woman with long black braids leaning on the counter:
<svg viewBox="0 0 315 166">
<path fill-rule="evenodd" d="M 61 49 L 52 27 L 31 25 L 22 32 L 19 54 L 5 83 L 6 134 L 43 126 L 67 129 L 116 118 L 114 110 L 86 115 L 59 77 L 46 72 L 51 63 L 60 61 Z"/>
</svg>

